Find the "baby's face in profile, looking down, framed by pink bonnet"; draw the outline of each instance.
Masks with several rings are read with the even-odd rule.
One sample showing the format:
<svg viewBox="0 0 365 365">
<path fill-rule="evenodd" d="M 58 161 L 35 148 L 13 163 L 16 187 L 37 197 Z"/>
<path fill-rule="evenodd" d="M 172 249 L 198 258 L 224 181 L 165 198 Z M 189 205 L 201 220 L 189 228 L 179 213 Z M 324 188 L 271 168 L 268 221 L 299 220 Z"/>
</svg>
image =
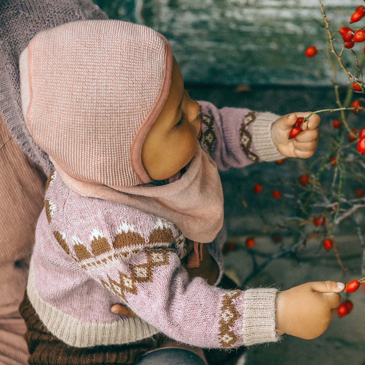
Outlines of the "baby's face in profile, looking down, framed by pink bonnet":
<svg viewBox="0 0 365 365">
<path fill-rule="evenodd" d="M 142 164 L 152 180 L 174 176 L 193 158 L 201 128 L 198 112 L 174 59 L 169 95 L 142 146 Z"/>
</svg>

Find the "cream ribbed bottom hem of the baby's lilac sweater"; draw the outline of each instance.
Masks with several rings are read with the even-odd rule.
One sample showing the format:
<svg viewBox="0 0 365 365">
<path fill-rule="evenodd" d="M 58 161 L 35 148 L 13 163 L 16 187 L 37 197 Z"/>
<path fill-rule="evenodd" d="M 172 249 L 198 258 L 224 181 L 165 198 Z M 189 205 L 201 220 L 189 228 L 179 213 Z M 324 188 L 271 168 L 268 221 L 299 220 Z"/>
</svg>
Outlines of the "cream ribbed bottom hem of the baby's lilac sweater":
<svg viewBox="0 0 365 365">
<path fill-rule="evenodd" d="M 112 323 L 82 322 L 61 312 L 38 296 L 32 261 L 27 294 L 33 308 L 47 329 L 70 346 L 122 345 L 140 341 L 159 332 L 157 328 L 150 326 L 140 318 L 125 318 Z"/>
</svg>

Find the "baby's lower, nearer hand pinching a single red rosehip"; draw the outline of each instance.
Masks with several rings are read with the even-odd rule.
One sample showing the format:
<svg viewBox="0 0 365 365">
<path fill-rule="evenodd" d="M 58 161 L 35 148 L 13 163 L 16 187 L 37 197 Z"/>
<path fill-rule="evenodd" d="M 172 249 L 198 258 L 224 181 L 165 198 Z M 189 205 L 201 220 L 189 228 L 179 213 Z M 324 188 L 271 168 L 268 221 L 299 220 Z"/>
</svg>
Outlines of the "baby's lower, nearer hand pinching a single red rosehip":
<svg viewBox="0 0 365 365">
<path fill-rule="evenodd" d="M 277 293 L 276 329 L 278 334 L 312 339 L 326 331 L 341 302 L 345 284 L 313 281 Z"/>
</svg>

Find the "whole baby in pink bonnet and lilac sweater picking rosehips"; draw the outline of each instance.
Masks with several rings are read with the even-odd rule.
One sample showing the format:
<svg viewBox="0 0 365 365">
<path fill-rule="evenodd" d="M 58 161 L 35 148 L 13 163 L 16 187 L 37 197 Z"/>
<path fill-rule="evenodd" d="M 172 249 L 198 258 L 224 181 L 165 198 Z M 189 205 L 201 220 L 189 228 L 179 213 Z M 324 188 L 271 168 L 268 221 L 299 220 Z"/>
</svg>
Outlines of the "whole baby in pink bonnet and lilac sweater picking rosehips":
<svg viewBox="0 0 365 365">
<path fill-rule="evenodd" d="M 317 115 L 289 140 L 296 118 L 309 113 L 198 103 L 168 41 L 115 20 L 38 33 L 20 74 L 27 126 L 55 168 L 20 307 L 31 363 L 131 364 L 164 335 L 234 348 L 326 330 L 341 283 L 280 293 L 219 284 L 218 169 L 310 157 Z M 115 303 L 137 316 L 112 313 Z"/>
</svg>

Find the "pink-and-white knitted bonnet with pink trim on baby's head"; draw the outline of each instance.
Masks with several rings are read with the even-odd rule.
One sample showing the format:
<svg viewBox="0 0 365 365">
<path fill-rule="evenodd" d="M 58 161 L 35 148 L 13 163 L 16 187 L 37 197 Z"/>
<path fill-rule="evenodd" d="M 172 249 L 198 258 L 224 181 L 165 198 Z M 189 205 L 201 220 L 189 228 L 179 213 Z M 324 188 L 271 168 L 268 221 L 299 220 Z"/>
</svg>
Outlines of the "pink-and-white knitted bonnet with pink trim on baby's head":
<svg viewBox="0 0 365 365">
<path fill-rule="evenodd" d="M 138 24 L 85 20 L 39 32 L 20 56 L 34 141 L 77 180 L 148 183 L 141 149 L 168 96 L 172 61 L 166 38 Z"/>
</svg>

